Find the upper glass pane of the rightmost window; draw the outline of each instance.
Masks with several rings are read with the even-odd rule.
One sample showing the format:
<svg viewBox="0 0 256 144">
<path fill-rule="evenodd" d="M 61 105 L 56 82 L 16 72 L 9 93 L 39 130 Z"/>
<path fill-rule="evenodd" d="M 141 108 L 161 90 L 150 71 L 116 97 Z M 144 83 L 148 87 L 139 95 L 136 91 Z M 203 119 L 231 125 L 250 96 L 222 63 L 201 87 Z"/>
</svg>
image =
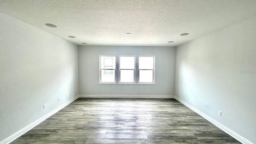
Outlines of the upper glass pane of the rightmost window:
<svg viewBox="0 0 256 144">
<path fill-rule="evenodd" d="M 139 57 L 139 69 L 153 69 L 154 57 L 140 56 Z"/>
</svg>

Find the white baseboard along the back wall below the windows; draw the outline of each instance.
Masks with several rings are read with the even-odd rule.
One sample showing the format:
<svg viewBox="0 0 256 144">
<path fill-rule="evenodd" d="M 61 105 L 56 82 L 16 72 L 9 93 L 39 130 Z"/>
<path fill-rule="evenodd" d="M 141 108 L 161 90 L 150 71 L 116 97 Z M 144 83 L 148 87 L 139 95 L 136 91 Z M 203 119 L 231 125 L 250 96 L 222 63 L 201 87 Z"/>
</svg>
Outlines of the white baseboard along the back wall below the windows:
<svg viewBox="0 0 256 144">
<path fill-rule="evenodd" d="M 79 98 L 174 98 L 165 95 L 79 95 Z"/>
</svg>

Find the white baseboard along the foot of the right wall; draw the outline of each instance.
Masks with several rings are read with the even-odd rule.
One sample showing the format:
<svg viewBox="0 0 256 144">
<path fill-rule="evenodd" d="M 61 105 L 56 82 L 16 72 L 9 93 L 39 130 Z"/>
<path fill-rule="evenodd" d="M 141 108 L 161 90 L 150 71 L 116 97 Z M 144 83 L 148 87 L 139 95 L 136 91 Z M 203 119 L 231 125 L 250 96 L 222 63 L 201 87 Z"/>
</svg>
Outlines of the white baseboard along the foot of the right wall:
<svg viewBox="0 0 256 144">
<path fill-rule="evenodd" d="M 191 110 L 193 110 L 194 112 L 196 112 L 197 114 L 199 114 L 200 116 L 202 116 L 203 118 L 205 118 L 206 120 L 208 120 L 209 122 L 211 122 L 212 124 L 214 124 L 215 126 L 217 126 L 218 128 L 220 128 L 221 130 L 223 130 L 224 132 L 226 132 L 227 134 L 229 134 L 230 136 L 232 136 L 233 138 L 235 138 L 236 140 L 238 140 L 239 142 L 242 142 L 243 144 L 253 144 L 252 142 L 250 142 L 249 140 L 247 140 L 246 138 L 240 136 L 239 134 L 237 134 L 236 132 L 230 130 L 229 128 L 227 128 L 226 126 L 220 124 L 219 122 L 217 122 L 216 120 L 214 120 L 213 118 L 211 118 L 210 116 L 207 116 L 206 114 L 204 114 L 203 112 L 201 112 L 200 110 L 194 108 L 193 106 L 191 106 L 190 104 L 184 102 L 183 100 L 181 100 L 180 98 L 174 96 L 174 98 L 176 100 L 178 100 L 180 103 L 184 104 L 185 106 L 187 106 L 188 108 L 190 108 Z"/>
</svg>

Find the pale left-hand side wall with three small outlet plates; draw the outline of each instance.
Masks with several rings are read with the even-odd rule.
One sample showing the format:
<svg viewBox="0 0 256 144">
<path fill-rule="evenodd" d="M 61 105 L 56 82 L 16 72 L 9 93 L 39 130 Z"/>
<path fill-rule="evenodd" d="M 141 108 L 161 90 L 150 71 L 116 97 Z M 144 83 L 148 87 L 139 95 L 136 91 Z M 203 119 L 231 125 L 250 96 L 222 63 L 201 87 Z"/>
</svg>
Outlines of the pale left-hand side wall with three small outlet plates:
<svg viewBox="0 0 256 144">
<path fill-rule="evenodd" d="M 0 13 L 0 142 L 78 95 L 77 49 Z"/>
</svg>

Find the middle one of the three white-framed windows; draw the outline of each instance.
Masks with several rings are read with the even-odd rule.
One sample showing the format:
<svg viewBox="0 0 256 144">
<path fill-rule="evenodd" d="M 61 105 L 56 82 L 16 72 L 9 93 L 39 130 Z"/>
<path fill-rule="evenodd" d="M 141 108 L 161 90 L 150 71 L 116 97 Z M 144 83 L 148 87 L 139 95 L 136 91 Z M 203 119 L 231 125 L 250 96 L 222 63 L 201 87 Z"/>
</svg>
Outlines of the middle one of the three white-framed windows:
<svg viewBox="0 0 256 144">
<path fill-rule="evenodd" d="M 135 56 L 119 56 L 119 82 L 135 83 Z"/>
</svg>

